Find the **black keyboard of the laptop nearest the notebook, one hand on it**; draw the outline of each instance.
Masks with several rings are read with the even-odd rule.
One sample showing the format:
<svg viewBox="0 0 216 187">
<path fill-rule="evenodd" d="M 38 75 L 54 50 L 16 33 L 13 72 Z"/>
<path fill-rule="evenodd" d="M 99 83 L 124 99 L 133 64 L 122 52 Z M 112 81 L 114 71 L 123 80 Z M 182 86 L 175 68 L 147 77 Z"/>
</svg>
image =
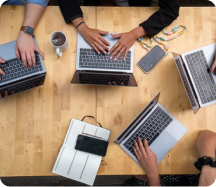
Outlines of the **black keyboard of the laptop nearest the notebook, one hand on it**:
<svg viewBox="0 0 216 187">
<path fill-rule="evenodd" d="M 152 142 L 163 132 L 163 130 L 171 123 L 172 118 L 165 113 L 159 106 L 151 113 L 151 115 L 143 122 L 139 129 L 133 133 L 124 146 L 134 155 L 134 142 L 138 137 L 147 140 L 150 146 Z"/>
</svg>

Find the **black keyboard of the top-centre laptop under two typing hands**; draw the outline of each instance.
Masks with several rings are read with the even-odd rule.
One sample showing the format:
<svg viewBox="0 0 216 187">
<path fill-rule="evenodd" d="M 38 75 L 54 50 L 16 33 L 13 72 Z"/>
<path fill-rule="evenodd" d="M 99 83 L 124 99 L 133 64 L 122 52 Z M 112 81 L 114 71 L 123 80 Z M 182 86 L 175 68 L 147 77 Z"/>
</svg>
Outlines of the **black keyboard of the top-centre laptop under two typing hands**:
<svg viewBox="0 0 216 187">
<path fill-rule="evenodd" d="M 79 67 L 130 70 L 131 52 L 128 51 L 127 58 L 123 60 L 124 53 L 118 60 L 110 59 L 110 54 L 95 52 L 94 49 L 80 48 Z"/>
</svg>

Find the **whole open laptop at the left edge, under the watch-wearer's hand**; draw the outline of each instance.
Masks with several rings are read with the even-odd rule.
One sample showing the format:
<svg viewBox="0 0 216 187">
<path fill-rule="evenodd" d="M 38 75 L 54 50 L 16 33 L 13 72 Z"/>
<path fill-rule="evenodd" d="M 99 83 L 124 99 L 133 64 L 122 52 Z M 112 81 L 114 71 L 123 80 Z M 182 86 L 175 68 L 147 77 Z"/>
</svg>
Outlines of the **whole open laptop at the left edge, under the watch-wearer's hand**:
<svg viewBox="0 0 216 187">
<path fill-rule="evenodd" d="M 34 36 L 33 39 L 38 46 Z M 15 46 L 16 41 L 0 45 L 0 57 L 6 61 L 0 63 L 0 68 L 6 74 L 5 76 L 0 75 L 1 98 L 44 84 L 46 69 L 41 56 L 35 52 L 36 66 L 25 68 L 22 60 L 17 59 Z M 8 92 L 7 95 L 4 94 L 5 91 Z"/>
</svg>

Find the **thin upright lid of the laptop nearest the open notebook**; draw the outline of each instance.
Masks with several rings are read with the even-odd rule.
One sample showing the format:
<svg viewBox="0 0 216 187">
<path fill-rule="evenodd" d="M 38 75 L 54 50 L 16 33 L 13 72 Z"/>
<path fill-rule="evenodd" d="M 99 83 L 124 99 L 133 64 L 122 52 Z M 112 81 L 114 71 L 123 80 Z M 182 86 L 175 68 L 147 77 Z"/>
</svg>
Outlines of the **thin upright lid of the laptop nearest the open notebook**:
<svg viewBox="0 0 216 187">
<path fill-rule="evenodd" d="M 134 118 L 134 120 L 122 131 L 122 133 L 114 140 L 115 143 L 120 144 L 145 118 L 151 109 L 158 103 L 160 92 L 144 107 L 144 109 Z"/>
</svg>

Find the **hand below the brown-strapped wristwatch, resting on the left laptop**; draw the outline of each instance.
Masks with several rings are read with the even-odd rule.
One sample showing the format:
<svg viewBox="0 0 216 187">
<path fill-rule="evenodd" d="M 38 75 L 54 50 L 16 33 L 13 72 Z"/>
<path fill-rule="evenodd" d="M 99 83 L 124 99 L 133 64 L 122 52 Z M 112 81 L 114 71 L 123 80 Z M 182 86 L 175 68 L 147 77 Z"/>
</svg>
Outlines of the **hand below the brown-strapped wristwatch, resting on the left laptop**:
<svg viewBox="0 0 216 187">
<path fill-rule="evenodd" d="M 25 67 L 32 67 L 36 65 L 36 59 L 34 51 L 37 51 L 44 59 L 44 55 L 41 50 L 35 45 L 33 37 L 20 31 L 17 43 L 16 43 L 16 56 L 18 59 L 22 59 Z"/>
</svg>

